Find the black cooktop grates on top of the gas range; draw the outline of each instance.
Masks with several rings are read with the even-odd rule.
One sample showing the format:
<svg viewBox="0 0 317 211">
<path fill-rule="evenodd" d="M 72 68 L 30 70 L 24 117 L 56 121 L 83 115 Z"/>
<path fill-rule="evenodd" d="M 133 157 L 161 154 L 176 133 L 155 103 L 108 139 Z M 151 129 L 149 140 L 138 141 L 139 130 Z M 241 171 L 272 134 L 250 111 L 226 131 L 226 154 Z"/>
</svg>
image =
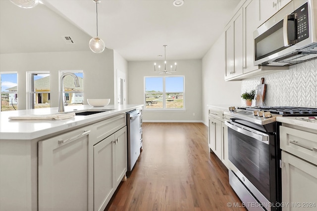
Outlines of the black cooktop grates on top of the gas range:
<svg viewBox="0 0 317 211">
<path fill-rule="evenodd" d="M 250 111 L 261 110 L 269 111 L 271 114 L 282 116 L 317 116 L 317 108 L 291 107 L 291 106 L 255 106 L 255 107 L 238 107 Z"/>
</svg>

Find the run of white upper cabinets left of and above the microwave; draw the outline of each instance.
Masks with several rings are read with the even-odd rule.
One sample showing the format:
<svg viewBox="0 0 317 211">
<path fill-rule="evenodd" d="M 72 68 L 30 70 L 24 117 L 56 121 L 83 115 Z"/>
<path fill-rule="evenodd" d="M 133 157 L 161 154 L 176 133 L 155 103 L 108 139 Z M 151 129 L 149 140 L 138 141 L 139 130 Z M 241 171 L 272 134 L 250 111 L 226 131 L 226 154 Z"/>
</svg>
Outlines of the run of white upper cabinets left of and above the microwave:
<svg viewBox="0 0 317 211">
<path fill-rule="evenodd" d="M 287 66 L 254 65 L 253 32 L 290 1 L 246 0 L 239 4 L 239 10 L 225 27 L 225 81 L 240 81 L 262 74 L 263 71 L 288 69 Z"/>
</svg>

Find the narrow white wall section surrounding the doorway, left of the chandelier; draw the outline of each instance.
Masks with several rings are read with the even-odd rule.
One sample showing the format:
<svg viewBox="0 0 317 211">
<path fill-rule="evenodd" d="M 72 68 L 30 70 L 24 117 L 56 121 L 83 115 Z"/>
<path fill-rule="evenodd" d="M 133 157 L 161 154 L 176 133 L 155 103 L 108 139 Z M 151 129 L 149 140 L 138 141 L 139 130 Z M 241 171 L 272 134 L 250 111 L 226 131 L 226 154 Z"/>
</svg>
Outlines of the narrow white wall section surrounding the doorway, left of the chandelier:
<svg viewBox="0 0 317 211">
<path fill-rule="evenodd" d="M 126 79 L 128 79 L 128 62 L 125 60 L 118 52 L 113 50 L 113 82 L 114 82 L 114 99 L 115 101 L 111 104 L 116 104 L 117 99 L 117 71 L 125 74 Z M 128 80 L 125 80 L 125 103 L 129 104 L 129 93 L 128 93 Z"/>
</svg>

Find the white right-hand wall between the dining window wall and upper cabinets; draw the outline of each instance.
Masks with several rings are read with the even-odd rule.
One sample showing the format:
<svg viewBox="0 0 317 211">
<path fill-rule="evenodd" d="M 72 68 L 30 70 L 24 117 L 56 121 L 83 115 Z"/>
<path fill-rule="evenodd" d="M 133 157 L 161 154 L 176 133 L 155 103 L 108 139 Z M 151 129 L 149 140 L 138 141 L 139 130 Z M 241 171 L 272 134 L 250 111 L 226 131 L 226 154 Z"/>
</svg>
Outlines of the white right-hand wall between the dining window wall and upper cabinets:
<svg viewBox="0 0 317 211">
<path fill-rule="evenodd" d="M 203 57 L 203 122 L 208 123 L 207 105 L 241 104 L 241 81 L 225 82 L 225 37 L 222 34 Z"/>
</svg>

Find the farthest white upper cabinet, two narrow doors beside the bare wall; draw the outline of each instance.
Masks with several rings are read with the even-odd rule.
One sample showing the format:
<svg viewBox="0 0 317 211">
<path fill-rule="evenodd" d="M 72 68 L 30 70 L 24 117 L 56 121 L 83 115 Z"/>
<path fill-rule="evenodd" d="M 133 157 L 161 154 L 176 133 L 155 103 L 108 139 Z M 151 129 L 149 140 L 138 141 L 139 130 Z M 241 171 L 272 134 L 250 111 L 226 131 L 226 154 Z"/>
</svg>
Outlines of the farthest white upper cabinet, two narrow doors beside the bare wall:
<svg viewBox="0 0 317 211">
<path fill-rule="evenodd" d="M 243 74 L 243 8 L 225 28 L 225 79 Z"/>
</svg>

